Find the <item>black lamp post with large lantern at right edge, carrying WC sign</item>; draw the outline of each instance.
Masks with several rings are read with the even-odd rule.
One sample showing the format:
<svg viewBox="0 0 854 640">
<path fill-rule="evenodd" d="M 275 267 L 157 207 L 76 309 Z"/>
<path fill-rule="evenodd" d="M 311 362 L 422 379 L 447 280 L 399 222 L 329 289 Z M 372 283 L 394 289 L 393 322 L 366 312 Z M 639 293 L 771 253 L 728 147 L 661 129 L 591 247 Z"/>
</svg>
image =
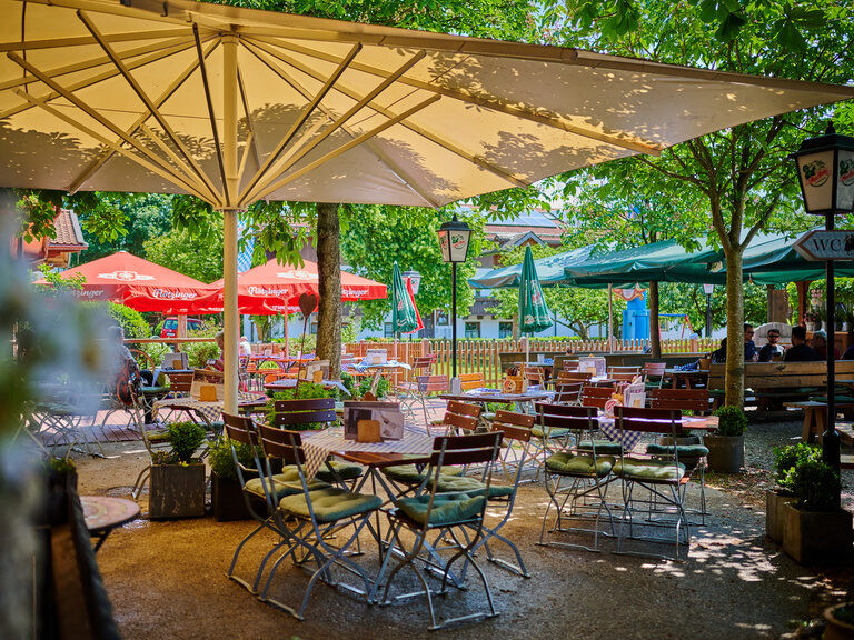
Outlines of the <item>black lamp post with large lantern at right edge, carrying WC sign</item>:
<svg viewBox="0 0 854 640">
<path fill-rule="evenodd" d="M 845 216 L 854 210 L 854 138 L 841 136 L 827 126 L 824 136 L 804 140 L 801 148 L 792 153 L 797 164 L 797 179 L 804 209 L 813 216 L 824 216 L 825 229 L 834 227 L 835 216 Z M 834 327 L 834 269 L 833 260 L 826 262 L 827 276 L 827 327 Z M 827 344 L 827 430 L 822 437 L 822 459 L 840 471 L 840 432 L 836 431 L 836 383 L 834 349 L 835 334 L 831 330 Z M 838 503 L 838 494 L 836 501 Z"/>
</svg>

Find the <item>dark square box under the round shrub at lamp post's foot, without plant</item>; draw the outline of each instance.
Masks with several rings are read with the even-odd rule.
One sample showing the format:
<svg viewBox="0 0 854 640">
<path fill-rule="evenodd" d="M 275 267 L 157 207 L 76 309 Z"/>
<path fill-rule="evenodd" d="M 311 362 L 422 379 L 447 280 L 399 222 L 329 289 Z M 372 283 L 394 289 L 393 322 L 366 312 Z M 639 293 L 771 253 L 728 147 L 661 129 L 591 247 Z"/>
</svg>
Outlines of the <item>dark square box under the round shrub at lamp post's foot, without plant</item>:
<svg viewBox="0 0 854 640">
<path fill-rule="evenodd" d="M 802 564 L 813 562 L 844 563 L 851 560 L 851 513 L 838 511 L 801 511 L 792 504 L 783 507 L 783 551 Z"/>
</svg>

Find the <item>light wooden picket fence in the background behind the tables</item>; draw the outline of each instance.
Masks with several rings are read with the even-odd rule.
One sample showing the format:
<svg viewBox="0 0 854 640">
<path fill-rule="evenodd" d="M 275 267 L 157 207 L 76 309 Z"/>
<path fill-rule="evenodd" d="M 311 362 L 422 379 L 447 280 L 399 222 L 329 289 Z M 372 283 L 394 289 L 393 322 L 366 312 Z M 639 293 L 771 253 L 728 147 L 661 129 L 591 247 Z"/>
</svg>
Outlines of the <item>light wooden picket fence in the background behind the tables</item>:
<svg viewBox="0 0 854 640">
<path fill-rule="evenodd" d="M 719 347 L 719 340 L 665 339 L 662 340 L 662 353 L 707 353 Z M 530 353 L 643 353 L 651 347 L 649 340 L 532 340 Z M 401 341 L 397 348 L 393 342 L 354 342 L 345 346 L 347 353 L 364 358 L 368 349 L 385 349 L 388 358 L 413 363 L 418 356 L 435 354 L 434 373 L 450 376 L 451 343 L 447 339 Z M 395 349 L 397 352 L 395 353 Z M 525 350 L 522 340 L 458 340 L 457 373 L 483 372 L 488 386 L 497 386 L 504 371 L 500 353 Z"/>
</svg>

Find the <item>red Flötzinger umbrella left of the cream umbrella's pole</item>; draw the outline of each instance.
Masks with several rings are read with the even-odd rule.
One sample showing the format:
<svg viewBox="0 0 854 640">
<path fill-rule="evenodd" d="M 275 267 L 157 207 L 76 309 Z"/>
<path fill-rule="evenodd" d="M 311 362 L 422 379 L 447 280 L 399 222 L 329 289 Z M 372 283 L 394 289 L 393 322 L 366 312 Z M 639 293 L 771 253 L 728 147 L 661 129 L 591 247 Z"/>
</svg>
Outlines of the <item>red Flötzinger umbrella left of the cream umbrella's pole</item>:
<svg viewBox="0 0 854 640">
<path fill-rule="evenodd" d="M 62 278 L 81 274 L 87 300 L 121 302 L 137 311 L 161 313 L 216 313 L 217 287 L 138 258 L 127 251 L 92 260 L 62 272 Z M 48 284 L 44 279 L 36 284 Z"/>
</svg>

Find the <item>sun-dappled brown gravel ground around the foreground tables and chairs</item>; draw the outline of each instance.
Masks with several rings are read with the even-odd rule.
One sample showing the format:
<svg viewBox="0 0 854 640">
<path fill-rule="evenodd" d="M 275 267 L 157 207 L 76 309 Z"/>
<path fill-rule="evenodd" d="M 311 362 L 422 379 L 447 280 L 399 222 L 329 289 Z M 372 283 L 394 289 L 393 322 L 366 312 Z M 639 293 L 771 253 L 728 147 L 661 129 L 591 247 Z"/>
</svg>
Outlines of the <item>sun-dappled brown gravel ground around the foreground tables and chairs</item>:
<svg viewBox="0 0 854 640">
<path fill-rule="evenodd" d="M 224 576 L 251 522 L 220 523 L 211 517 L 151 522 L 143 516 L 115 531 L 98 561 L 122 636 L 140 640 L 325 639 L 344 633 L 352 640 L 505 640 L 534 630 L 543 637 L 779 638 L 841 600 L 852 582 L 851 570 L 801 567 L 764 537 L 763 491 L 771 482 L 771 451 L 796 441 L 800 431 L 800 418 L 751 424 L 745 473 L 707 476 L 712 516 L 706 526 L 694 529 L 689 558 L 679 563 L 612 554 L 610 540 L 603 553 L 537 546 L 545 491 L 542 483 L 524 484 L 504 532 L 519 544 L 534 577 L 524 580 L 483 562 L 500 617 L 453 631 L 425 631 L 420 601 L 366 607 L 324 584 L 316 587 L 305 622 L 259 602 Z M 107 460 L 78 458 L 80 490 L 127 494 L 147 454 L 139 442 L 106 449 Z M 844 474 L 850 507 L 853 478 L 852 472 Z M 688 501 L 696 503 L 697 497 L 693 487 Z M 141 507 L 145 514 L 145 496 Z M 247 546 L 244 572 L 251 571 L 251 560 L 270 543 L 261 539 Z M 376 556 L 371 544 L 363 557 L 368 567 Z M 282 567 L 276 596 L 295 601 L 305 584 L 299 570 Z M 477 604 L 481 594 L 473 586 L 453 593 L 448 602 L 465 608 Z"/>
</svg>

